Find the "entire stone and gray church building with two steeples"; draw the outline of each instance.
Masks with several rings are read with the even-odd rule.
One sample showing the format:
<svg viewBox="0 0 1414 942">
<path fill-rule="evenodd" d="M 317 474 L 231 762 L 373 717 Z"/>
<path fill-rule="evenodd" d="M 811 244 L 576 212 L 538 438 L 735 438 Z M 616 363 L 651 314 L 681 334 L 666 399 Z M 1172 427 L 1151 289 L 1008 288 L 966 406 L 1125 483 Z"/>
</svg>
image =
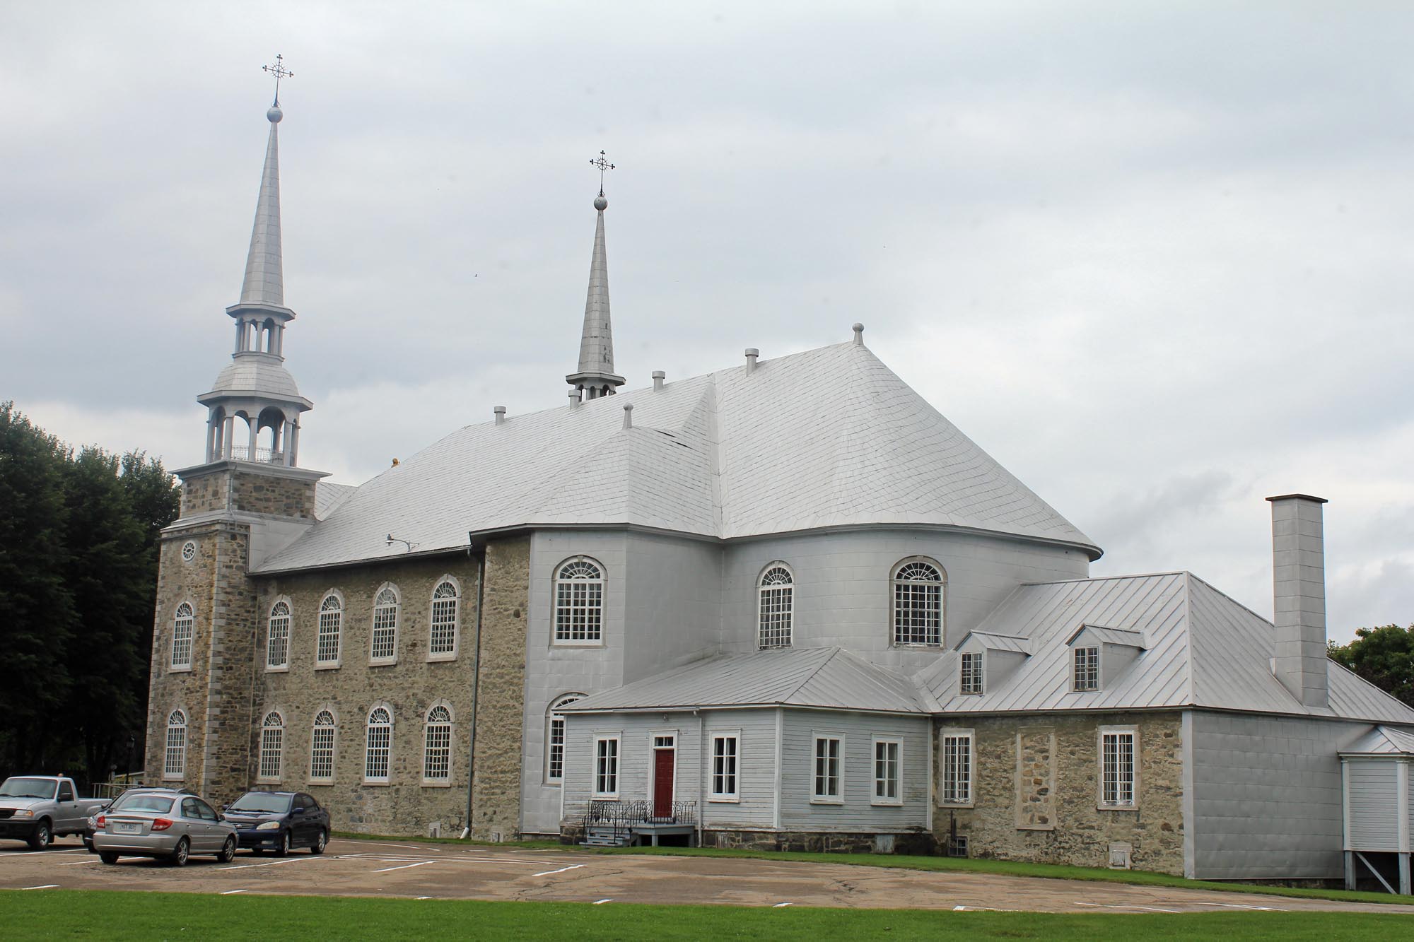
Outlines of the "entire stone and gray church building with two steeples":
<svg viewBox="0 0 1414 942">
<path fill-rule="evenodd" d="M 568 402 L 329 484 L 298 461 L 267 117 L 232 358 L 163 533 L 150 781 L 307 791 L 365 833 L 1199 878 L 1384 853 L 1407 888 L 1414 710 L 1326 659 L 1325 501 L 1270 498 L 1273 622 L 1186 571 L 1090 577 L 1100 547 L 860 324 L 629 389 L 602 187 Z M 1362 777 L 1387 846 L 1352 843 Z"/>
</svg>

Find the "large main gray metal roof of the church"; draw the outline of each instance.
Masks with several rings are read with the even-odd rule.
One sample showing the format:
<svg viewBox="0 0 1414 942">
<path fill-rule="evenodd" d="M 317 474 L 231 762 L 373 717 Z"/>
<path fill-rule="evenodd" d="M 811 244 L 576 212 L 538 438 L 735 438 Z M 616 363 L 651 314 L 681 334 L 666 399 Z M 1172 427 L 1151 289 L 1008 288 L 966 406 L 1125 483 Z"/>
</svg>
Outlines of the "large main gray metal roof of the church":
<svg viewBox="0 0 1414 942">
<path fill-rule="evenodd" d="M 624 429 L 632 405 L 633 427 Z M 467 426 L 359 487 L 262 571 L 468 532 L 638 525 L 708 537 L 929 525 L 1094 543 L 863 344 Z"/>
</svg>

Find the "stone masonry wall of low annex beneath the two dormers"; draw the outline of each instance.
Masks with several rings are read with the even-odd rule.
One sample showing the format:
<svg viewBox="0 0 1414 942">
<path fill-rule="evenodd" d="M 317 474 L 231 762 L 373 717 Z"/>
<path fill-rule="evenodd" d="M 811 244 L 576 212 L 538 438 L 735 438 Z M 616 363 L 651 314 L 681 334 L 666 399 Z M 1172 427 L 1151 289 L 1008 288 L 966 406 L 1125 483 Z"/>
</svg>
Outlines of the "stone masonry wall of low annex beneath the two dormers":
<svg viewBox="0 0 1414 942">
<path fill-rule="evenodd" d="M 1178 713 L 945 717 L 936 726 L 971 728 L 976 743 L 973 806 L 937 806 L 940 843 L 956 818 L 973 857 L 1104 867 L 1109 844 L 1118 842 L 1131 844 L 1137 870 L 1184 874 Z M 1102 726 L 1137 727 L 1133 810 L 1097 806 Z"/>
</svg>

